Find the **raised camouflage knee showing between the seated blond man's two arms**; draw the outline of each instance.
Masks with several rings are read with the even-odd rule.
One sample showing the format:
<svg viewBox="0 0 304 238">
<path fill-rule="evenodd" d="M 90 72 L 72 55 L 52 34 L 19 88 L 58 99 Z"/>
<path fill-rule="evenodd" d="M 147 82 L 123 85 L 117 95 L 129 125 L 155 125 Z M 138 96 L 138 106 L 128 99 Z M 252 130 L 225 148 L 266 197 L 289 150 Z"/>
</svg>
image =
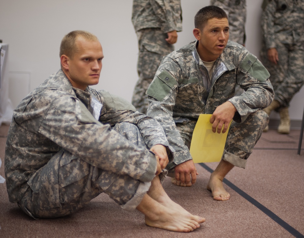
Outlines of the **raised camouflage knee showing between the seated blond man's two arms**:
<svg viewBox="0 0 304 238">
<path fill-rule="evenodd" d="M 120 122 L 114 126 L 113 130 L 118 132 L 133 144 L 147 147 L 136 125 L 128 122 Z"/>
</svg>

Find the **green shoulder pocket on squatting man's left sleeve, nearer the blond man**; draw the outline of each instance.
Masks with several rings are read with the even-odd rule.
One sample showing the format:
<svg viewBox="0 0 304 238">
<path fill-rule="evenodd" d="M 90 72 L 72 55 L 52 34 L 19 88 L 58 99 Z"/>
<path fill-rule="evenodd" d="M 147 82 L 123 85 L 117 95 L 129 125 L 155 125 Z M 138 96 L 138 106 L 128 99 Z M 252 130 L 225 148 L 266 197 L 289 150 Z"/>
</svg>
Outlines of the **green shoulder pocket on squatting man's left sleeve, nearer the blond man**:
<svg viewBox="0 0 304 238">
<path fill-rule="evenodd" d="M 176 85 L 176 79 L 170 73 L 163 71 L 153 79 L 146 94 L 162 101 Z"/>
</svg>

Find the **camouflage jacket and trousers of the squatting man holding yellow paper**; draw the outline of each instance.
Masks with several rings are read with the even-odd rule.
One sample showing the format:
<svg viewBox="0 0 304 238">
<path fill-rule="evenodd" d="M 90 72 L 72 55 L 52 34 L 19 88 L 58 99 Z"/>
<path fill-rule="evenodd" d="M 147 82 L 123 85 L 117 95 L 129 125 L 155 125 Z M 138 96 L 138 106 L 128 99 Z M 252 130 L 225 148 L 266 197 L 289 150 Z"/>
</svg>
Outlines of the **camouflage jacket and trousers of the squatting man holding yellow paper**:
<svg viewBox="0 0 304 238">
<path fill-rule="evenodd" d="M 147 90 L 150 103 L 147 115 L 163 126 L 175 150 L 174 162 L 167 169 L 192 159 L 188 147 L 199 114 L 212 114 L 227 100 L 233 103 L 237 113 L 230 126 L 223 159 L 244 168 L 268 124 L 262 108 L 274 96 L 269 73 L 246 48 L 228 40 L 214 63 L 210 79 L 196 51 L 197 43 L 193 41 L 164 57 Z M 245 92 L 233 96 L 237 84 Z"/>
</svg>

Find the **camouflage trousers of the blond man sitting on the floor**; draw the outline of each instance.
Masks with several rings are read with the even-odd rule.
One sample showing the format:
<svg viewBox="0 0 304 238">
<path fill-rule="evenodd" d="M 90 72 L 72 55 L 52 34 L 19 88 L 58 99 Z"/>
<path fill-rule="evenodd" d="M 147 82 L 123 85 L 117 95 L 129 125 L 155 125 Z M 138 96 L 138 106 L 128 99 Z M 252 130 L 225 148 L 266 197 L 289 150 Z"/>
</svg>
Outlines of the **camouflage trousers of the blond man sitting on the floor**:
<svg viewBox="0 0 304 238">
<path fill-rule="evenodd" d="M 114 130 L 136 145 L 145 146 L 135 125 L 123 122 Z M 134 210 L 150 183 L 101 168 L 102 164 L 92 166 L 62 149 L 31 177 L 30 187 L 18 205 L 35 219 L 54 218 L 77 211 L 104 192 L 122 208 Z"/>
</svg>

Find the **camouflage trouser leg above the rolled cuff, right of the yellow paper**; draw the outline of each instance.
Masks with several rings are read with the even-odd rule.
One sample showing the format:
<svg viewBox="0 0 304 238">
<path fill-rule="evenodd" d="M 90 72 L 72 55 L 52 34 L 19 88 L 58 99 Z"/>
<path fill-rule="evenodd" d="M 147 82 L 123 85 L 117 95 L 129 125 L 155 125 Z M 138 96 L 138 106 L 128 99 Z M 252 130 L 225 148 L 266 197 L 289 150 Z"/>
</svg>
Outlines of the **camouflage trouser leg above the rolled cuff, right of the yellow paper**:
<svg viewBox="0 0 304 238">
<path fill-rule="evenodd" d="M 247 159 L 268 122 L 268 115 L 262 109 L 251 113 L 242 123 L 233 121 L 227 135 L 225 150 L 240 159 Z"/>
</svg>

